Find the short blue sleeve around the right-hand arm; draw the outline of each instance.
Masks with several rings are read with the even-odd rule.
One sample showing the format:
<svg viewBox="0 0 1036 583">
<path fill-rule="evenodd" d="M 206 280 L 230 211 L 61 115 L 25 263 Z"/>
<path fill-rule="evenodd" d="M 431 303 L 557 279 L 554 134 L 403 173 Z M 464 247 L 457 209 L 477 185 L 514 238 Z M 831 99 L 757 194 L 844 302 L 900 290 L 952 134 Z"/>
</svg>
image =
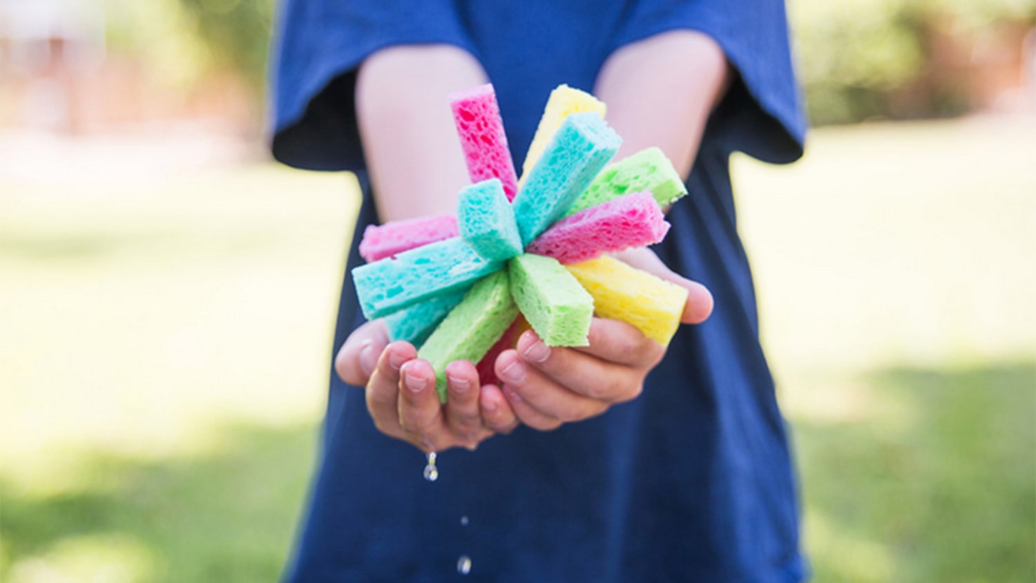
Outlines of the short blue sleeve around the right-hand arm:
<svg viewBox="0 0 1036 583">
<path fill-rule="evenodd" d="M 782 164 L 802 155 L 806 134 L 787 18 L 780 0 L 637 2 L 615 49 L 661 32 L 697 30 L 714 38 L 737 79 L 710 120 L 729 151 Z"/>
</svg>

